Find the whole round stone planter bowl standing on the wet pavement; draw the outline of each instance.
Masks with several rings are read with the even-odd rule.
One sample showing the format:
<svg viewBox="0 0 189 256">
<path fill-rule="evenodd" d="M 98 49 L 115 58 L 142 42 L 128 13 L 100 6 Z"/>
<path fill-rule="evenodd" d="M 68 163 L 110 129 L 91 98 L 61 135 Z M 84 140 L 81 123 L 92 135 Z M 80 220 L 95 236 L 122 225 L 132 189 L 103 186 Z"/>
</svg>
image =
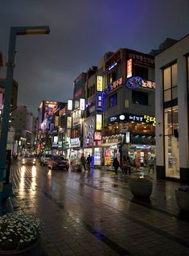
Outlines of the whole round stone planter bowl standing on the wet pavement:
<svg viewBox="0 0 189 256">
<path fill-rule="evenodd" d="M 129 180 L 130 192 L 135 197 L 149 198 L 152 192 L 151 180 Z"/>
</svg>

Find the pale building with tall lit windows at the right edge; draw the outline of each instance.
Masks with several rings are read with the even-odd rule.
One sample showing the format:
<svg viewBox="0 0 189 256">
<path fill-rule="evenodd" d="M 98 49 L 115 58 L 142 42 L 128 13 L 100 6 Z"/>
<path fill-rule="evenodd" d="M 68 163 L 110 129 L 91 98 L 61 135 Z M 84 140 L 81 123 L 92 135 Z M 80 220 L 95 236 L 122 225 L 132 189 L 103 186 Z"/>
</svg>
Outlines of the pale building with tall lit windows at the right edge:
<svg viewBox="0 0 189 256">
<path fill-rule="evenodd" d="M 189 35 L 155 56 L 158 179 L 189 181 Z"/>
</svg>

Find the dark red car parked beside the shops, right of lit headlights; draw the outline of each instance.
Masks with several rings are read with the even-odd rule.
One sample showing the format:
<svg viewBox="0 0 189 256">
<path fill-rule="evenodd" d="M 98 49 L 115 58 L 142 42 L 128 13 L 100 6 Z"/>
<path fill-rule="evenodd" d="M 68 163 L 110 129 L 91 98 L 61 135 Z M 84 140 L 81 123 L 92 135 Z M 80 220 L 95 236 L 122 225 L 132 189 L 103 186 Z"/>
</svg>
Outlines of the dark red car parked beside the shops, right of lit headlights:
<svg viewBox="0 0 189 256">
<path fill-rule="evenodd" d="M 64 159 L 62 155 L 52 155 L 47 161 L 47 167 L 51 169 L 69 169 L 68 159 Z"/>
</svg>

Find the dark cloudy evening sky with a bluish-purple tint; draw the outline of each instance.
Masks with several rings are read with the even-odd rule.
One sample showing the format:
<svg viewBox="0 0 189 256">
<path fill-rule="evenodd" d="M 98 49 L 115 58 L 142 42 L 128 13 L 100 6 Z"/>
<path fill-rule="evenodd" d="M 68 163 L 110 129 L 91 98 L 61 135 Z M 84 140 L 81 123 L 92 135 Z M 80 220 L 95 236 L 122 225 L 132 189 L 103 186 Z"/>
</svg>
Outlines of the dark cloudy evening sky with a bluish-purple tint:
<svg viewBox="0 0 189 256">
<path fill-rule="evenodd" d="M 189 34 L 189 1 L 0 0 L 0 20 L 4 64 L 10 27 L 50 27 L 50 35 L 17 36 L 18 105 L 36 115 L 40 101 L 72 98 L 73 81 L 105 52 L 129 47 L 149 53 L 166 37 Z"/>
</svg>

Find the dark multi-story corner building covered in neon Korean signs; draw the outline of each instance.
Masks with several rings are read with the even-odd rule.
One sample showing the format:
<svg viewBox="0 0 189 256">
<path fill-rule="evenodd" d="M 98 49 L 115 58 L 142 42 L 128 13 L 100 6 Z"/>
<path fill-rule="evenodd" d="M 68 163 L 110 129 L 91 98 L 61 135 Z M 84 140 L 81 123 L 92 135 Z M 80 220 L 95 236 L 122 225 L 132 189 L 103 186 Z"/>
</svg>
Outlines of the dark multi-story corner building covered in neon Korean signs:
<svg viewBox="0 0 189 256">
<path fill-rule="evenodd" d="M 155 157 L 154 57 L 121 48 L 105 59 L 104 82 L 105 165 L 129 155 L 139 167 Z"/>
</svg>

